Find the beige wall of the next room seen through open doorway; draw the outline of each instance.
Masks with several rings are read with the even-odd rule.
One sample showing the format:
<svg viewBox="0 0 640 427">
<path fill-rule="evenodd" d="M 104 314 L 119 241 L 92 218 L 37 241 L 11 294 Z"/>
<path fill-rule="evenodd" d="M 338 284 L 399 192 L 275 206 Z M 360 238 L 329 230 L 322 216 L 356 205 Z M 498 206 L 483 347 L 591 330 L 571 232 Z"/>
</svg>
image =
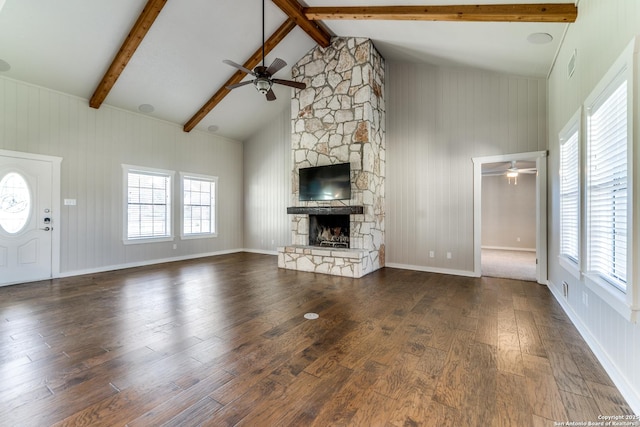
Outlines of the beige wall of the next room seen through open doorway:
<svg viewBox="0 0 640 427">
<path fill-rule="evenodd" d="M 482 247 L 536 250 L 536 175 L 482 177 Z"/>
</svg>

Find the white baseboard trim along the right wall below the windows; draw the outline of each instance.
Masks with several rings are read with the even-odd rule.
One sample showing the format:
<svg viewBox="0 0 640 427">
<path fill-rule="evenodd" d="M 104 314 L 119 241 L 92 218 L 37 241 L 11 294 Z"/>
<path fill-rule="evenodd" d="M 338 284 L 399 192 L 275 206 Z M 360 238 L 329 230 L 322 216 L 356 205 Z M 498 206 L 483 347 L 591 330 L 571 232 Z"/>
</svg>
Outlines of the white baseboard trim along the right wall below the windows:
<svg viewBox="0 0 640 427">
<path fill-rule="evenodd" d="M 548 281 L 547 288 L 549 288 L 553 297 L 558 301 L 558 304 L 560 304 L 567 316 L 569 316 L 571 323 L 573 323 L 591 351 L 593 351 L 593 354 L 602 364 L 604 370 L 607 371 L 607 374 L 611 377 L 611 381 L 618 387 L 620 394 L 622 394 L 629 406 L 631 406 L 633 412 L 640 414 L 640 391 L 636 390 L 632 384 L 629 384 L 625 375 L 620 372 L 615 362 L 609 356 L 609 353 L 600 345 L 598 339 L 593 336 L 587 325 L 580 319 L 580 316 L 578 316 L 571 305 L 566 302 L 562 294 L 559 293 L 560 290 L 552 281 Z"/>
</svg>

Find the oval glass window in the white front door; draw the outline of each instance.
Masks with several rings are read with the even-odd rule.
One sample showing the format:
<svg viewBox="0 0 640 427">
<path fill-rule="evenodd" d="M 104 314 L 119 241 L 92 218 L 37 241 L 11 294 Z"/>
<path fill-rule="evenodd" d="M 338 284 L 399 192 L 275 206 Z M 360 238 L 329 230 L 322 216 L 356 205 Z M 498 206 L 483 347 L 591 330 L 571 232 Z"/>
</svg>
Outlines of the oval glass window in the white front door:
<svg viewBox="0 0 640 427">
<path fill-rule="evenodd" d="M 16 172 L 0 180 L 0 227 L 9 234 L 20 232 L 29 222 L 31 192 L 27 181 Z"/>
</svg>

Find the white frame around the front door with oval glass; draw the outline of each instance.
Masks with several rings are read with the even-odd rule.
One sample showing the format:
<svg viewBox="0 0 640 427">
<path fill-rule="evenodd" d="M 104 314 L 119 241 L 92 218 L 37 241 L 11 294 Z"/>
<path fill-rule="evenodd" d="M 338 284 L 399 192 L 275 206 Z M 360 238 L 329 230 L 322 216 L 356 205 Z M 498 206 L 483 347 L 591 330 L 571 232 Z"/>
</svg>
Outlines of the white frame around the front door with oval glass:
<svg viewBox="0 0 640 427">
<path fill-rule="evenodd" d="M 21 160 L 38 160 L 51 164 L 51 277 L 60 276 L 60 225 L 62 222 L 60 211 L 60 174 L 62 157 L 44 154 L 24 153 L 0 149 L 0 157 L 11 157 Z"/>
</svg>

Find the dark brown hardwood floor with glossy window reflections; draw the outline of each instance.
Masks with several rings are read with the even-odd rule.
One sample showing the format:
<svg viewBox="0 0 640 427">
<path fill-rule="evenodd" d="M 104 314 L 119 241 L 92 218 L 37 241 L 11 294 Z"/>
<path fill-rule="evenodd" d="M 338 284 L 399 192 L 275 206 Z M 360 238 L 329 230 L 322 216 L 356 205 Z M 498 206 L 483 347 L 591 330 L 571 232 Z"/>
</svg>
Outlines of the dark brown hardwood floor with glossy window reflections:
<svg viewBox="0 0 640 427">
<path fill-rule="evenodd" d="M 632 414 L 544 286 L 391 268 L 338 278 L 248 253 L 0 288 L 0 373 L 2 426 Z"/>
</svg>

